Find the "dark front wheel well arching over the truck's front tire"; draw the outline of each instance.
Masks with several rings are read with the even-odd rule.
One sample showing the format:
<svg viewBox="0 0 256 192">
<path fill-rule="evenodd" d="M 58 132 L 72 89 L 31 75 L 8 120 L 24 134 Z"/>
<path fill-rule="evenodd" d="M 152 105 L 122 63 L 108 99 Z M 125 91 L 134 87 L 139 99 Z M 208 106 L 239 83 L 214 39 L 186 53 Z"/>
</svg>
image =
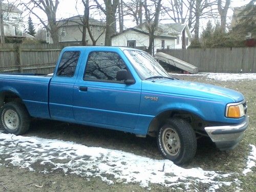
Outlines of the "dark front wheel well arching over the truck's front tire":
<svg viewBox="0 0 256 192">
<path fill-rule="evenodd" d="M 184 119 L 193 127 L 195 131 L 204 131 L 203 128 L 205 127 L 206 122 L 198 115 L 195 115 L 187 111 L 170 110 L 157 115 L 151 121 L 150 126 L 148 127 L 147 135 L 156 137 L 157 131 L 160 129 L 162 125 L 165 124 L 166 119 L 173 117 Z"/>
</svg>

